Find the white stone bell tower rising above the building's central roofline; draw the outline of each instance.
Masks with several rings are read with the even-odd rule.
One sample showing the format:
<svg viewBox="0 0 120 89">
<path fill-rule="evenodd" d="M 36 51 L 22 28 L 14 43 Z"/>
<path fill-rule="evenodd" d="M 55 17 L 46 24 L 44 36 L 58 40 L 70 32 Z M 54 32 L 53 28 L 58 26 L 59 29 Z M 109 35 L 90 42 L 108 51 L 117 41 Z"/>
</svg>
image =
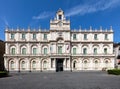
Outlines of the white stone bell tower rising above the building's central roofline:
<svg viewBox="0 0 120 89">
<path fill-rule="evenodd" d="M 70 30 L 70 21 L 66 20 L 62 9 L 56 12 L 54 20 L 50 20 L 50 30 Z"/>
</svg>

